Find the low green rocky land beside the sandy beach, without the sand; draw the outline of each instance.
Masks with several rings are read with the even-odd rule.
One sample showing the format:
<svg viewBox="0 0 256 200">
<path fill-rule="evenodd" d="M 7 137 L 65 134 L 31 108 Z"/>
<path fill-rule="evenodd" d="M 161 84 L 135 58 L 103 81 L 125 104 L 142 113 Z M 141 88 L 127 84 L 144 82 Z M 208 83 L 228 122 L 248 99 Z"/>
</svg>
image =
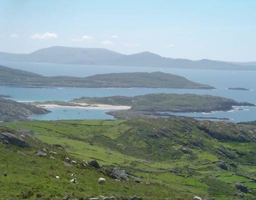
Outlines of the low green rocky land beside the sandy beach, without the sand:
<svg viewBox="0 0 256 200">
<path fill-rule="evenodd" d="M 156 93 L 138 96 L 108 96 L 108 97 L 81 97 L 72 100 L 78 103 L 89 104 L 111 104 L 129 105 L 130 110 L 119 110 L 109 112 L 118 118 L 127 115 L 129 118 L 143 115 L 157 115 L 157 111 L 173 112 L 210 112 L 215 110 L 230 110 L 234 105 L 250 105 L 251 103 L 240 103 L 235 100 L 198 94 L 175 94 Z"/>
</svg>

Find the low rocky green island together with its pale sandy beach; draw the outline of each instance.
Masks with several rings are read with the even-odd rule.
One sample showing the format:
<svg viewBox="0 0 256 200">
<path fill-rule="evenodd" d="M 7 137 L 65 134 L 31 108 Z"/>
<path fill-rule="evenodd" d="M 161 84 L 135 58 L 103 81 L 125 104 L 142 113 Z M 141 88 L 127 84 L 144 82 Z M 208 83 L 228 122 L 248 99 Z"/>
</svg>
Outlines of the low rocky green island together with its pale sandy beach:
<svg viewBox="0 0 256 200">
<path fill-rule="evenodd" d="M 135 117 L 173 117 L 168 112 L 227 111 L 233 106 L 255 106 L 253 103 L 198 94 L 152 93 L 138 96 L 81 97 L 65 101 L 32 102 L 37 106 L 74 107 L 84 109 L 113 109 L 107 112 L 119 119 Z M 166 112 L 166 113 L 165 113 Z M 203 117 L 211 118 L 211 117 Z M 227 118 L 220 118 L 227 119 Z"/>
</svg>

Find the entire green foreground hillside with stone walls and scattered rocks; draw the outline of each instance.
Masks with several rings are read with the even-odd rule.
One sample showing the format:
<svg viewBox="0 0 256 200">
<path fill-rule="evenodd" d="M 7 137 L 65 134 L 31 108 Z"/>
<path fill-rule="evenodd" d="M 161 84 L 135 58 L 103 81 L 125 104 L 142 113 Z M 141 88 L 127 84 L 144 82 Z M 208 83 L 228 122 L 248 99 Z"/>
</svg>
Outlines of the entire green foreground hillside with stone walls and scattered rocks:
<svg viewBox="0 0 256 200">
<path fill-rule="evenodd" d="M 254 199 L 255 124 L 180 117 L 6 123 L 1 197 Z"/>
</svg>

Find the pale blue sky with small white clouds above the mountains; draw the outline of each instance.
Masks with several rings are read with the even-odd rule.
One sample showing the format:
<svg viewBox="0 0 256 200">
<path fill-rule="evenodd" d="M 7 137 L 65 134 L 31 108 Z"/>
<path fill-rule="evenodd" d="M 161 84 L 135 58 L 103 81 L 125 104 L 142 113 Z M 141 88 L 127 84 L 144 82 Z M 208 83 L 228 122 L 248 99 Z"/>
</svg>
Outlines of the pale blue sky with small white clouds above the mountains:
<svg viewBox="0 0 256 200">
<path fill-rule="evenodd" d="M 256 61 L 256 0 L 0 0 L 0 51 L 56 45 Z"/>
</svg>

